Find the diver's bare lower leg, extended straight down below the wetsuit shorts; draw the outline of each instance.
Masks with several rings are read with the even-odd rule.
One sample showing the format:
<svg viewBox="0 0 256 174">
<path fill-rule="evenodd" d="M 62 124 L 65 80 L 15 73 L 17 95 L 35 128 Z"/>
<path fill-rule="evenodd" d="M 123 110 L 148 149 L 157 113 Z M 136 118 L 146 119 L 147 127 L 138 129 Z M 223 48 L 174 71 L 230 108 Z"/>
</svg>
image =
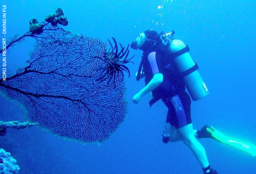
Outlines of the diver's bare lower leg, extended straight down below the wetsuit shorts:
<svg viewBox="0 0 256 174">
<path fill-rule="evenodd" d="M 181 135 L 183 142 L 192 150 L 202 168 L 209 166 L 206 151 L 194 136 L 192 123 L 179 128 L 178 133 Z"/>
</svg>

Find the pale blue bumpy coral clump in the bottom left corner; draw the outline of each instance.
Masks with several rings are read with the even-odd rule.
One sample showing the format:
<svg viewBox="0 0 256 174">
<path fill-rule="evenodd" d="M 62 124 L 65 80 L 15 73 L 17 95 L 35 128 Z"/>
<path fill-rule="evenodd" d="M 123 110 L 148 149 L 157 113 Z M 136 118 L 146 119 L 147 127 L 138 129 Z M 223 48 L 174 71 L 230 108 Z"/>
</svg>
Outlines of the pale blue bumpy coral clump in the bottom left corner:
<svg viewBox="0 0 256 174">
<path fill-rule="evenodd" d="M 16 159 L 12 158 L 9 152 L 0 149 L 0 174 L 17 174 L 20 167 L 16 162 Z"/>
</svg>

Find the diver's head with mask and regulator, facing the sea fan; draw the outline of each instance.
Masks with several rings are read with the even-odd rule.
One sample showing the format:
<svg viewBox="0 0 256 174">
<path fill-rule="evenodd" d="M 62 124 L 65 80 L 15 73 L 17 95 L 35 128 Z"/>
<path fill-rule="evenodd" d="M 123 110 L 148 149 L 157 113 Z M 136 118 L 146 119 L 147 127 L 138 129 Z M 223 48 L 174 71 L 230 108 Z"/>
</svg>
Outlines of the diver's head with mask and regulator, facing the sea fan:
<svg viewBox="0 0 256 174">
<path fill-rule="evenodd" d="M 132 49 L 146 50 L 149 46 L 157 45 L 161 43 L 161 38 L 156 31 L 146 30 L 140 33 L 140 36 L 136 38 L 131 44 Z"/>
</svg>

